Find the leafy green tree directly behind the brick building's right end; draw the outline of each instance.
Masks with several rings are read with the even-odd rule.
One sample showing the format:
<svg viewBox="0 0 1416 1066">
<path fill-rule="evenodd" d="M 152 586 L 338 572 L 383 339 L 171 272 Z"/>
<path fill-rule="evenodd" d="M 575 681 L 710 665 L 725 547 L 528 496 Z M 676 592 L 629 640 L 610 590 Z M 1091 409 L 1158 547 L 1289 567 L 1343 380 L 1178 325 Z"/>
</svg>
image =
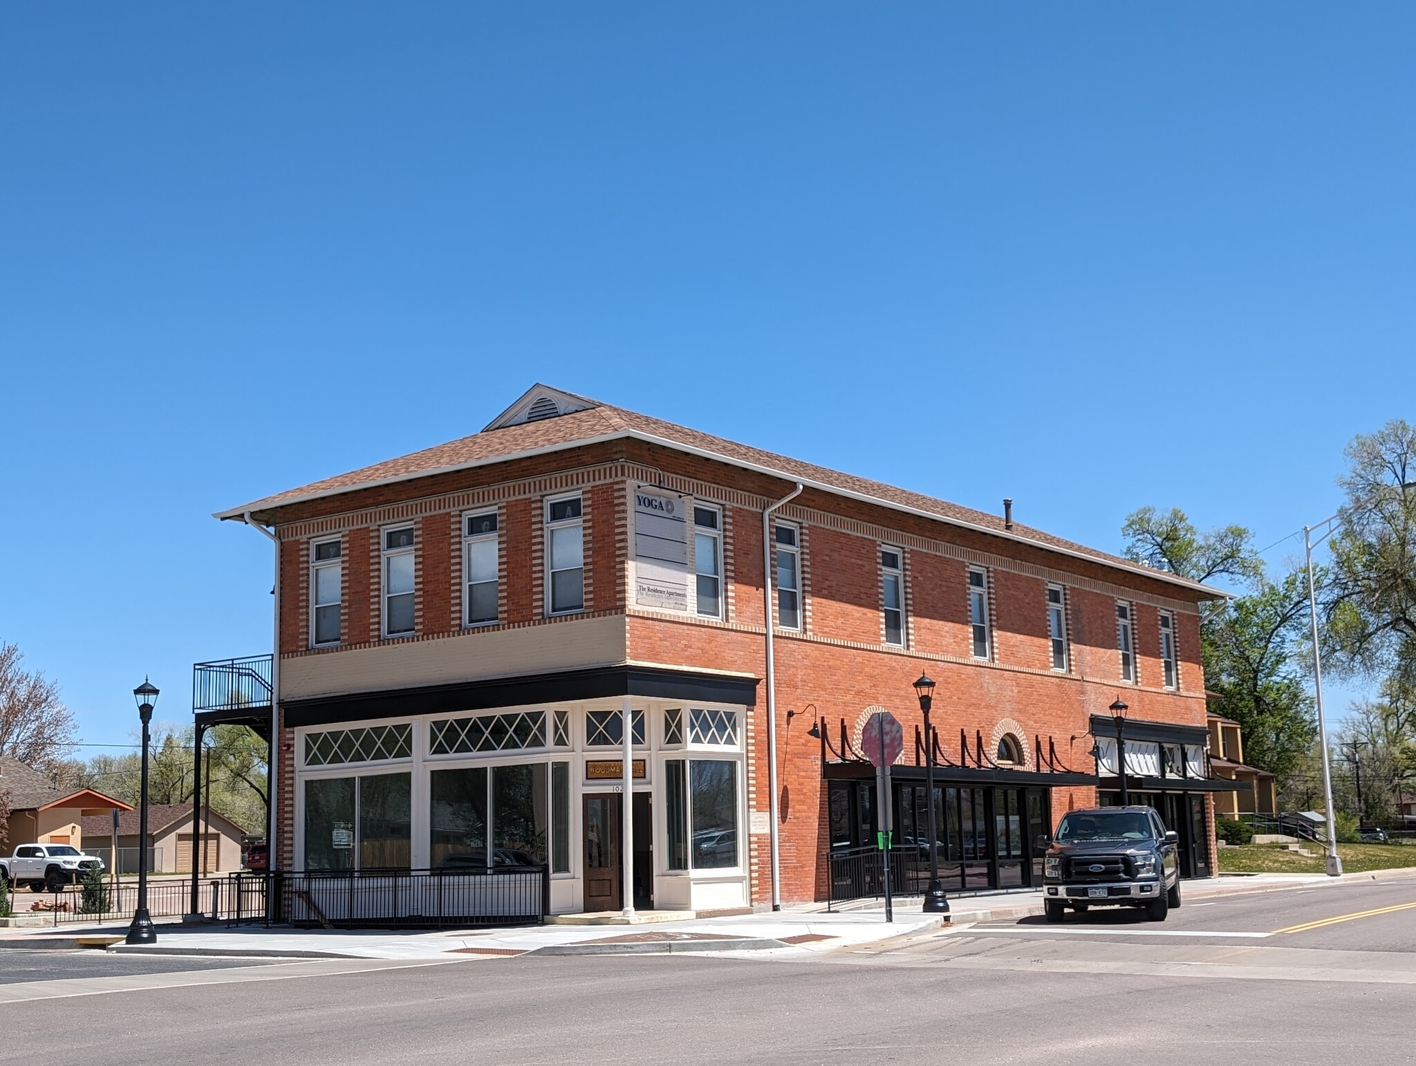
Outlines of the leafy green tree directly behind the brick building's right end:
<svg viewBox="0 0 1416 1066">
<path fill-rule="evenodd" d="M 1280 779 L 1297 770 L 1315 735 L 1301 663 L 1306 575 L 1269 580 L 1242 525 L 1199 532 L 1178 507 L 1133 511 L 1121 528 L 1126 556 L 1198 582 L 1246 589 L 1201 612 L 1201 657 L 1209 709 L 1243 728 L 1245 759 Z"/>
</svg>

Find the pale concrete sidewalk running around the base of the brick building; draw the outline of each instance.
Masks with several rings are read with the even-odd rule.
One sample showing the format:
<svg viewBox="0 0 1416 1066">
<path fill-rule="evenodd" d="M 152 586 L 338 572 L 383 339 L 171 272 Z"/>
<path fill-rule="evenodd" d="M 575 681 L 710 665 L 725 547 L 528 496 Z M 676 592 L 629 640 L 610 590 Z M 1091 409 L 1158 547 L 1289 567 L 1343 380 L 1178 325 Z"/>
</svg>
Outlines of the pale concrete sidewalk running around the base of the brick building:
<svg viewBox="0 0 1416 1066">
<path fill-rule="evenodd" d="M 1416 878 L 1416 869 L 1376 871 L 1328 878 L 1323 873 L 1260 873 L 1187 881 L 1187 900 L 1215 896 L 1332 888 L 1354 881 Z M 1042 913 L 1042 892 L 991 892 L 950 900 L 947 920 L 954 926 L 1007 922 Z M 893 920 L 885 922 L 881 900 L 857 900 L 847 909 L 826 910 L 824 903 L 789 906 L 779 913 L 687 919 L 639 926 L 545 924 L 455 932 L 329 932 L 241 926 L 159 924 L 159 943 L 129 947 L 118 941 L 126 923 L 58 929 L 6 930 L 0 948 L 108 947 L 144 954 L 200 954 L 280 958 L 439 958 L 513 957 L 524 954 L 680 954 L 809 957 L 821 951 L 888 940 L 937 929 L 946 916 L 925 915 L 920 900 L 901 900 Z"/>
</svg>

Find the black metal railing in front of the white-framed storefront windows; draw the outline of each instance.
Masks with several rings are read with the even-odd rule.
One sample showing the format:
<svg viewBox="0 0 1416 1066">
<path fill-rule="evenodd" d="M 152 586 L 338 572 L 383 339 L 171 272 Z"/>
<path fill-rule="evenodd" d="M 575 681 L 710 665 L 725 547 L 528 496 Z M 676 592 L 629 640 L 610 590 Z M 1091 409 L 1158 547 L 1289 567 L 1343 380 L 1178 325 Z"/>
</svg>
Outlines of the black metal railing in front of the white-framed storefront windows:
<svg viewBox="0 0 1416 1066">
<path fill-rule="evenodd" d="M 551 910 L 548 866 L 466 871 L 232 873 L 229 924 L 326 929 L 464 929 L 538 924 Z"/>
</svg>

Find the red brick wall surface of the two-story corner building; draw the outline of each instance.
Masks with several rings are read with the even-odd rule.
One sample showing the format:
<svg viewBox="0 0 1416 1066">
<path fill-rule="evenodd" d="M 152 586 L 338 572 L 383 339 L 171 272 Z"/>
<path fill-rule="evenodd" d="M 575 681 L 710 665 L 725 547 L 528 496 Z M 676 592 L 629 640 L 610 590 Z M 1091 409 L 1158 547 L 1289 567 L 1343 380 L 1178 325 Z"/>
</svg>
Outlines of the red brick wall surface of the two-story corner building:
<svg viewBox="0 0 1416 1066">
<path fill-rule="evenodd" d="M 722 508 L 724 619 L 704 619 L 633 604 L 630 487 L 660 484 Z M 280 537 L 280 655 L 338 654 L 379 643 L 379 529 L 416 529 L 415 640 L 463 631 L 462 515 L 496 510 L 500 546 L 500 621 L 493 633 L 548 620 L 545 500 L 579 491 L 585 537 L 585 612 L 624 619 L 626 660 L 763 677 L 762 508 L 792 490 L 780 477 L 636 440 L 573 447 L 500 466 L 433 474 L 341 495 L 290 504 L 273 512 Z M 1032 738 L 1048 738 L 1059 759 L 1092 769 L 1089 715 L 1106 713 L 1117 694 L 1134 718 L 1205 725 L 1197 599 L 1202 593 L 1147 575 L 990 535 L 882 504 L 809 488 L 780 512 L 800 527 L 801 629 L 776 634 L 776 705 L 782 898 L 820 898 L 826 885 L 827 798 L 821 747 L 807 735 L 813 715 L 831 736 L 850 729 L 865 708 L 885 706 L 912 736 L 920 715 L 912 682 L 937 682 L 933 721 L 946 749 L 959 730 L 997 743 L 1000 723 L 1017 723 L 1032 762 Z M 343 535 L 343 637 L 336 648 L 310 647 L 310 541 Z M 885 644 L 881 546 L 899 549 L 906 604 L 905 646 Z M 969 568 L 988 578 L 991 655 L 973 657 Z M 1066 670 L 1052 667 L 1048 586 L 1065 590 Z M 1116 603 L 1134 604 L 1137 682 L 1120 680 Z M 1178 684 L 1161 684 L 1160 614 L 1175 620 Z M 406 638 L 405 638 L 406 640 Z M 1011 726 L 1010 726 L 1011 729 Z M 289 866 L 293 743 L 282 732 L 280 861 Z M 749 810 L 766 811 L 766 699 L 760 691 L 746 738 Z M 1029 767 L 1031 769 L 1031 767 Z M 1054 818 L 1096 801 L 1090 787 L 1054 790 Z M 765 835 L 749 837 L 752 898 L 770 899 Z"/>
</svg>

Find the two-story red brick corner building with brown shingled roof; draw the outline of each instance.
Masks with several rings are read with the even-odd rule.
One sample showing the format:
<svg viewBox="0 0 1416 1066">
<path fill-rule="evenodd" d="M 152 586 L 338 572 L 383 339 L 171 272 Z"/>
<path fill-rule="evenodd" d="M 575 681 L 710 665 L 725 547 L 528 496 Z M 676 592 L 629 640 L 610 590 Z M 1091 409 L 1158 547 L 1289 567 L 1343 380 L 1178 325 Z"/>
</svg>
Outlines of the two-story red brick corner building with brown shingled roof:
<svg viewBox="0 0 1416 1066">
<path fill-rule="evenodd" d="M 820 899 L 874 835 L 877 708 L 925 839 L 927 672 L 946 888 L 1031 883 L 1037 835 L 1113 801 L 1119 695 L 1131 789 L 1211 871 L 1219 593 L 1175 575 L 541 385 L 217 517 L 276 544 L 282 869 L 547 864 L 554 912 Z"/>
</svg>

